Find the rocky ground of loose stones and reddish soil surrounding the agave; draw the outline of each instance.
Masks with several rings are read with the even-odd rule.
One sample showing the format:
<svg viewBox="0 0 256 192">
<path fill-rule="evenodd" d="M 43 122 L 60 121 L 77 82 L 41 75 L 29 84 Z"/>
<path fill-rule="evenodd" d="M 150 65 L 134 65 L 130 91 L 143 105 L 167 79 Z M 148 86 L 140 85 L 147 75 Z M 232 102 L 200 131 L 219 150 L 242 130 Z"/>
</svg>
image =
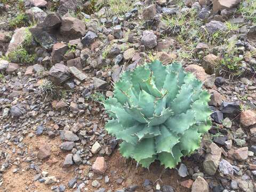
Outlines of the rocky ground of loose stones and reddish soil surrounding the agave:
<svg viewBox="0 0 256 192">
<path fill-rule="evenodd" d="M 0 191 L 256 191 L 256 1 L 1 0 Z M 213 126 L 173 170 L 118 153 L 124 70 L 181 62 Z M 189 143 L 188 143 L 189 145 Z"/>
</svg>

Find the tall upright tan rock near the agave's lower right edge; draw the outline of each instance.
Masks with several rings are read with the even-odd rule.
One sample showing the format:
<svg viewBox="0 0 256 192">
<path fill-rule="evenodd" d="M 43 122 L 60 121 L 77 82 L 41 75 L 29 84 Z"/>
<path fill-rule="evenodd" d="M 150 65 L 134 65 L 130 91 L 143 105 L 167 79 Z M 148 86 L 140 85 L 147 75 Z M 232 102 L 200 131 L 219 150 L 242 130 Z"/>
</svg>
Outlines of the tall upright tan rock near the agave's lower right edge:
<svg viewBox="0 0 256 192">
<path fill-rule="evenodd" d="M 205 156 L 204 171 L 209 175 L 214 175 L 218 169 L 221 158 L 221 149 L 212 142 L 209 146 L 210 153 Z"/>
</svg>

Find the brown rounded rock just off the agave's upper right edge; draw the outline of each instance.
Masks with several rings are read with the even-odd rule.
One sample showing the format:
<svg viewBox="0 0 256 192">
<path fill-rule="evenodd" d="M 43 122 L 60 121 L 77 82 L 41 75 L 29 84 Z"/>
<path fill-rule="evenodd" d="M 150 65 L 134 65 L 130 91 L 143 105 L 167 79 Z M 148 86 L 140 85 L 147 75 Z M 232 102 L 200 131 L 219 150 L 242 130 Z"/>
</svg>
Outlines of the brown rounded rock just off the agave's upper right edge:
<svg viewBox="0 0 256 192">
<path fill-rule="evenodd" d="M 204 57 L 202 66 L 207 74 L 214 74 L 215 67 L 219 64 L 219 57 L 214 54 L 208 54 Z"/>
</svg>

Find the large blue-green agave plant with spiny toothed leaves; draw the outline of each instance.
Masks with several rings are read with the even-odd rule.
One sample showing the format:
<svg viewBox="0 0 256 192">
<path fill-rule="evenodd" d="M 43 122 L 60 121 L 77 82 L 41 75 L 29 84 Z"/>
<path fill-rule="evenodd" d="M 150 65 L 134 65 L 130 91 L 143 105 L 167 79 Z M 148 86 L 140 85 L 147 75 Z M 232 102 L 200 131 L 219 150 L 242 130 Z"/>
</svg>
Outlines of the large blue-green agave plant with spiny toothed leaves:
<svg viewBox="0 0 256 192">
<path fill-rule="evenodd" d="M 202 82 L 179 63 L 160 61 L 126 71 L 104 106 L 111 117 L 105 126 L 120 139 L 120 153 L 143 167 L 158 159 L 173 168 L 190 155 L 211 127 L 210 95 Z"/>
</svg>

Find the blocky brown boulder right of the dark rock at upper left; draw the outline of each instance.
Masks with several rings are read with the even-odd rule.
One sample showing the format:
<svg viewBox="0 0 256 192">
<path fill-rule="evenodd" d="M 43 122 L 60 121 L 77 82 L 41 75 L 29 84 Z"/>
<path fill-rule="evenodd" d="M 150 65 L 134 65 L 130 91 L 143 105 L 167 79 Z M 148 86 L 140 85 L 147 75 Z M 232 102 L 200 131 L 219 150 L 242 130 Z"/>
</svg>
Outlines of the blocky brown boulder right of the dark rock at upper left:
<svg viewBox="0 0 256 192">
<path fill-rule="evenodd" d="M 85 35 L 85 24 L 83 21 L 73 18 L 62 18 L 60 34 L 67 39 L 77 39 Z"/>
</svg>

